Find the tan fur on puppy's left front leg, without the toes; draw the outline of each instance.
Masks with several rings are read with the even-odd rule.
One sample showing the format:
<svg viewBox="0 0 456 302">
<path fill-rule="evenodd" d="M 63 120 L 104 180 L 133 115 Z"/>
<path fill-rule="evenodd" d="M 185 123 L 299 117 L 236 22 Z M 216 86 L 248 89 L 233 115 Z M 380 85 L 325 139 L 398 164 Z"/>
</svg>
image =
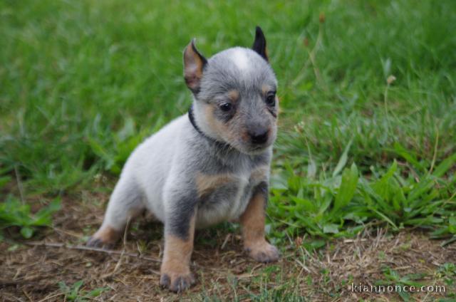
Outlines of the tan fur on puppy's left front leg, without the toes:
<svg viewBox="0 0 456 302">
<path fill-rule="evenodd" d="M 196 212 L 190 219 L 190 236 L 187 240 L 165 234 L 165 251 L 160 269 L 161 274 L 167 274 L 171 278 L 173 278 L 172 276 L 190 274 L 190 258 L 192 257 L 193 239 L 195 237 L 195 217 Z"/>
</svg>

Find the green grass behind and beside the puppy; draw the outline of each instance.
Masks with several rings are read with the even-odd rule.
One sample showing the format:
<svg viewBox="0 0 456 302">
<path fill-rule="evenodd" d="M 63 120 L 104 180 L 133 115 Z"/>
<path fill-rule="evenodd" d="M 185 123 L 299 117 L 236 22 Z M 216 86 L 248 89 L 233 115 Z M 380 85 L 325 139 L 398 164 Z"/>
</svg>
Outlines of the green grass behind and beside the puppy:
<svg viewBox="0 0 456 302">
<path fill-rule="evenodd" d="M 258 24 L 281 105 L 269 239 L 312 250 L 380 227 L 424 229 L 450 244 L 455 14 L 451 0 L 2 1 L 4 239 L 21 229 L 48 236 L 37 227 L 48 218 L 34 222 L 38 209 L 46 217 L 57 209 L 46 208 L 53 200 L 87 207 L 81 192 L 108 196 L 134 147 L 190 105 L 182 80 L 190 39 L 210 56 L 250 46 Z M 252 294 L 276 299 L 261 286 Z"/>
</svg>

